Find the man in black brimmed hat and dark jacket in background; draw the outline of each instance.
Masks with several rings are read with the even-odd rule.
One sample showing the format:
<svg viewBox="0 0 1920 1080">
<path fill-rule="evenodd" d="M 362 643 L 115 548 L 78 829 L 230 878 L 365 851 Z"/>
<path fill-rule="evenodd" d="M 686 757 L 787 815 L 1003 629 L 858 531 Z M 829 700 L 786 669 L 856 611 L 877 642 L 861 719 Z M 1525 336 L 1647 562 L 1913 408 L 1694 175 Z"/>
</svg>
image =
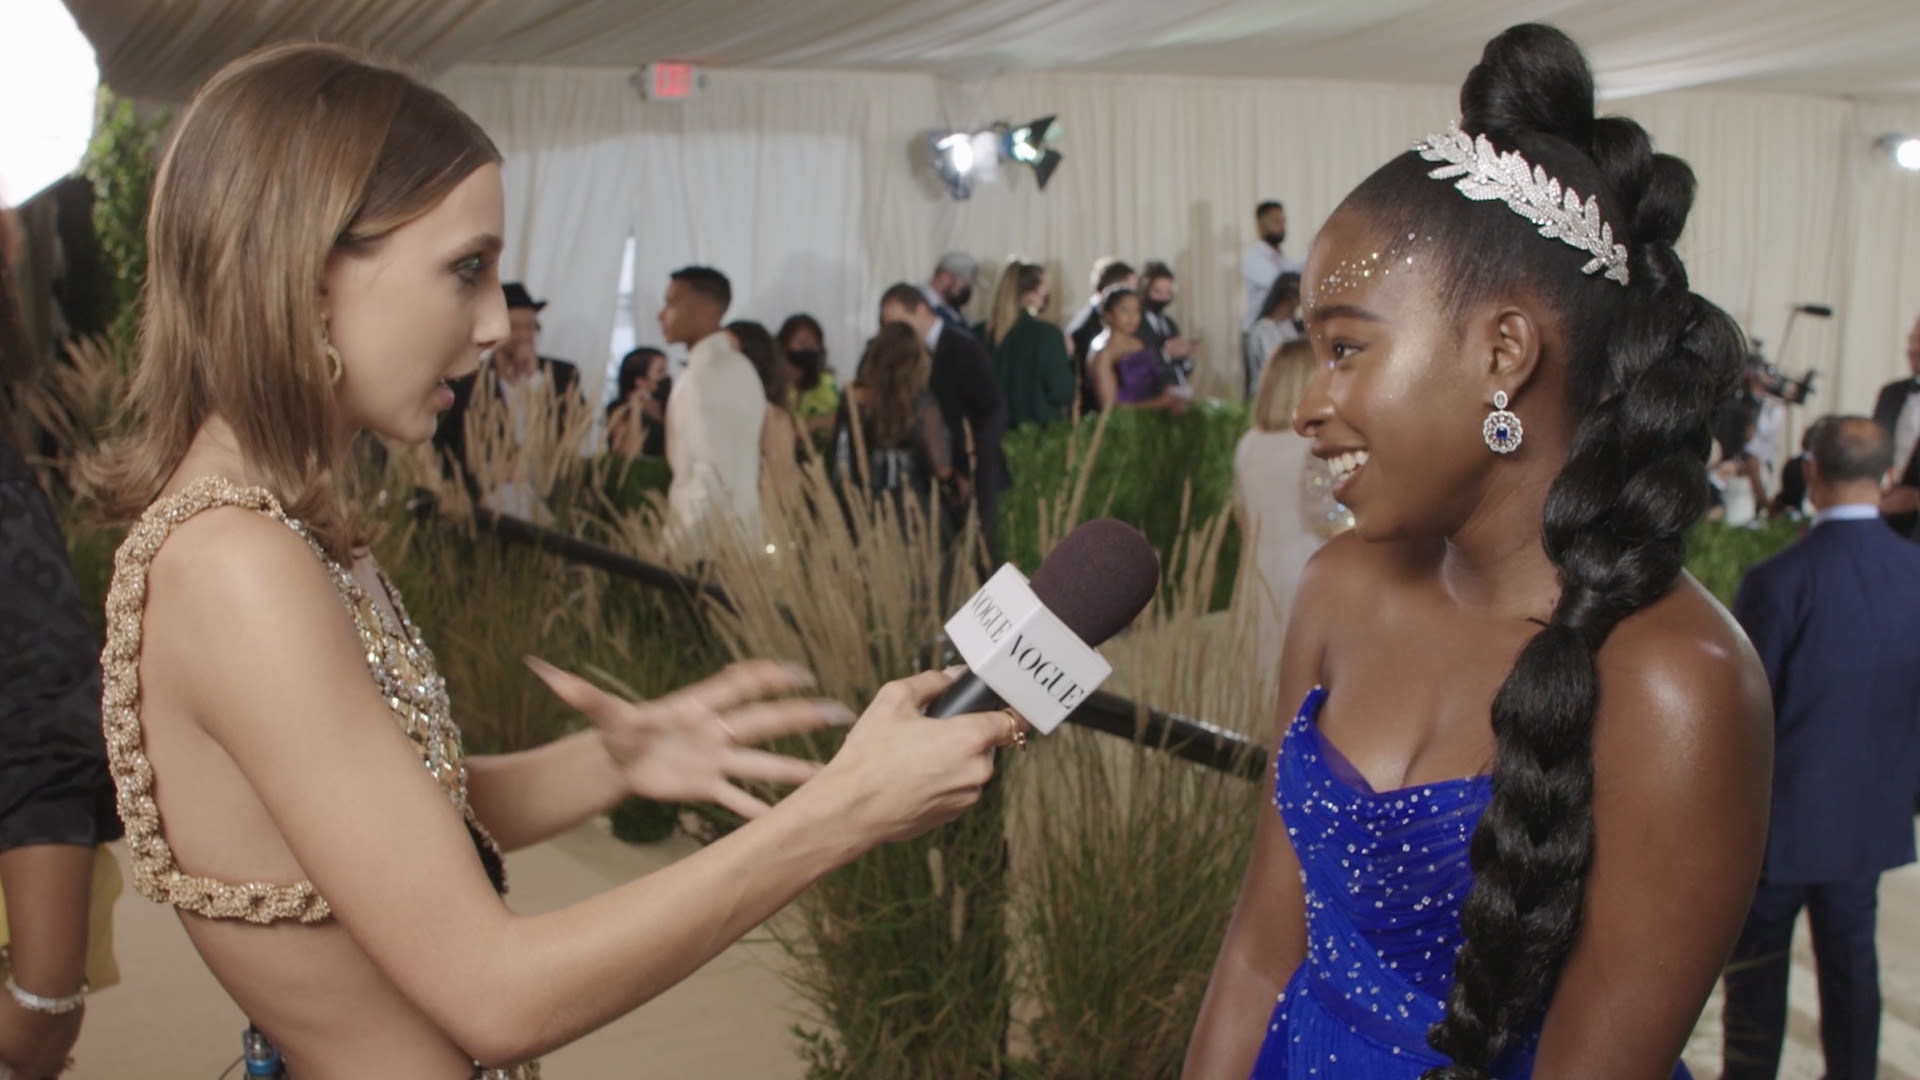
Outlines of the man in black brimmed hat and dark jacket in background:
<svg viewBox="0 0 1920 1080">
<path fill-rule="evenodd" d="M 551 446 L 564 438 L 584 417 L 586 400 L 580 394 L 580 369 L 564 359 L 540 356 L 540 311 L 545 300 L 534 300 L 524 284 L 511 281 L 501 286 L 507 294 L 507 340 L 501 342 L 480 371 L 465 379 L 453 379 L 453 405 L 440 413 L 434 429 L 434 450 L 449 475 L 457 473 L 474 502 L 482 502 L 497 484 L 482 484 L 482 463 L 474 459 L 486 448 L 467 446 L 467 413 L 472 409 L 474 392 L 486 388 L 497 404 L 497 413 L 505 430 L 499 438 L 515 450 L 536 444 Z M 530 425 L 543 425 L 549 430 L 530 430 Z M 520 507 L 526 509 L 526 507 Z"/>
</svg>

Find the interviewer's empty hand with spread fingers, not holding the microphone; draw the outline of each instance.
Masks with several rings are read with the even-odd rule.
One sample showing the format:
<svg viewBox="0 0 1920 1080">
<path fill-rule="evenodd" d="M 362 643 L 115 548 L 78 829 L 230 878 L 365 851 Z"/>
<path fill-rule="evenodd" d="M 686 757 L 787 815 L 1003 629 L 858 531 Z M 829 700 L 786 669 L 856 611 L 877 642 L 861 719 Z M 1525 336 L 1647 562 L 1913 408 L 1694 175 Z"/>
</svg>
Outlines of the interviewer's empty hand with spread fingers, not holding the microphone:
<svg viewBox="0 0 1920 1080">
<path fill-rule="evenodd" d="M 852 721 L 835 701 L 768 701 L 812 686 L 806 671 L 781 663 L 735 663 L 653 701 L 626 701 L 541 659 L 528 657 L 526 665 L 561 701 L 593 721 L 632 794 L 718 803 L 745 819 L 770 807 L 735 780 L 803 784 L 820 771 L 812 761 L 751 749 L 753 744 Z"/>
</svg>

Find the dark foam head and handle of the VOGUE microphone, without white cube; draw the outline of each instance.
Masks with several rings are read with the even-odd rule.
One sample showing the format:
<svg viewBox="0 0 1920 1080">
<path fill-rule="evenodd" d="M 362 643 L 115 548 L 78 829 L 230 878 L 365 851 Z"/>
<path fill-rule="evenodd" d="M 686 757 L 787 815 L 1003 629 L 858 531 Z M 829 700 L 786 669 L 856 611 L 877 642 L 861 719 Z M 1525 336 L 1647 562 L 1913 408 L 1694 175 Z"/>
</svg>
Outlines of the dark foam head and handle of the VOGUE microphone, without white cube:
<svg viewBox="0 0 1920 1080">
<path fill-rule="evenodd" d="M 1127 628 L 1160 588 L 1160 553 L 1139 528 L 1102 517 L 1089 521 L 1041 561 L 1033 596 L 1073 636 L 1092 648 Z M 927 705 L 929 717 L 958 717 L 1004 707 L 1006 701 L 972 671 Z"/>
</svg>

